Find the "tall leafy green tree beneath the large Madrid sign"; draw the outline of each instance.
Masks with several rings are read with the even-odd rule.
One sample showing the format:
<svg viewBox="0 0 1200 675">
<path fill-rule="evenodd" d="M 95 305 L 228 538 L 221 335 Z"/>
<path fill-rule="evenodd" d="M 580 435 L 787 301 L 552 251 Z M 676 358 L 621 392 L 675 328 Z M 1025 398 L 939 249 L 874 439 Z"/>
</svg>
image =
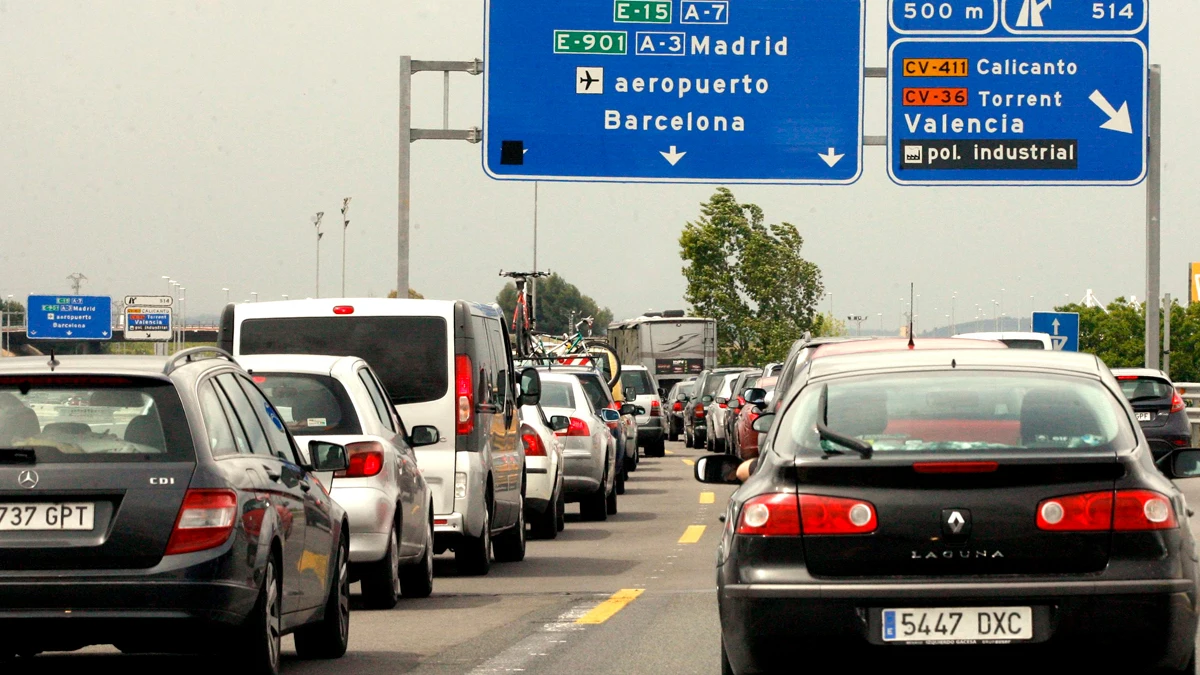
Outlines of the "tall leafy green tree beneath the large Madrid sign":
<svg viewBox="0 0 1200 675">
<path fill-rule="evenodd" d="M 739 204 L 725 187 L 684 226 L 684 299 L 696 316 L 716 319 L 720 363 L 782 360 L 804 331 L 824 325 L 816 311 L 821 269 L 800 256 L 803 246 L 793 225 L 766 225 L 761 208 Z"/>
</svg>

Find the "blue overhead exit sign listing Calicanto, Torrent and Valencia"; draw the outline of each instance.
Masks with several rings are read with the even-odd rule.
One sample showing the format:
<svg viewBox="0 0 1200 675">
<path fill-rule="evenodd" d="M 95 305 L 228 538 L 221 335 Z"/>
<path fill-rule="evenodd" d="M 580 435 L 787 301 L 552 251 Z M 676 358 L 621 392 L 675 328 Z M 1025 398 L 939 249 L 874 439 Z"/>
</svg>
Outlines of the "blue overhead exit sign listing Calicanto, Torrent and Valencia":
<svg viewBox="0 0 1200 675">
<path fill-rule="evenodd" d="M 892 0 L 892 179 L 1140 183 L 1147 150 L 1146 7 L 1103 5 L 1104 17 L 1085 20 L 1090 2 Z"/>
</svg>

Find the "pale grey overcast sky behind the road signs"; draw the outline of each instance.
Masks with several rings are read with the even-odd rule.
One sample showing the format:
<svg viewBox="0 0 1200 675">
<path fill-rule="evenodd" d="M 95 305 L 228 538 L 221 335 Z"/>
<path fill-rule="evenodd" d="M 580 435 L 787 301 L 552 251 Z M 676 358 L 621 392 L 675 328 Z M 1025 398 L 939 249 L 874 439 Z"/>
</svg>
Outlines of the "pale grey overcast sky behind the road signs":
<svg viewBox="0 0 1200 675">
<path fill-rule="evenodd" d="M 161 293 L 190 313 L 230 298 L 314 292 L 312 215 L 325 211 L 322 294 L 341 286 L 342 197 L 353 196 L 348 295 L 396 277 L 397 58 L 482 56 L 482 0 L 0 0 L 0 294 Z M 886 65 L 886 0 L 869 0 L 868 66 Z M 1153 0 L 1163 65 L 1163 291 L 1200 261 L 1200 2 Z M 451 79 L 452 127 L 480 125 L 481 78 Z M 868 80 L 868 135 L 883 135 Z M 440 74 L 418 74 L 414 126 L 442 121 Z M 834 312 L 895 327 L 908 282 L 922 328 L 1088 288 L 1145 293 L 1145 187 L 900 187 L 884 150 L 851 186 L 737 186 L 797 225 Z M 491 301 L 497 271 L 532 265 L 533 185 L 494 181 L 480 145 L 413 145 L 412 285 Z M 618 318 L 683 306 L 678 235 L 713 186 L 547 184 L 542 268 Z M 1031 295 L 1033 300 L 1031 301 Z M 828 309 L 828 300 L 822 310 Z M 937 311 L 934 311 L 934 307 Z M 989 312 L 990 316 L 990 312 Z M 944 319 L 943 319 L 944 322 Z"/>
</svg>

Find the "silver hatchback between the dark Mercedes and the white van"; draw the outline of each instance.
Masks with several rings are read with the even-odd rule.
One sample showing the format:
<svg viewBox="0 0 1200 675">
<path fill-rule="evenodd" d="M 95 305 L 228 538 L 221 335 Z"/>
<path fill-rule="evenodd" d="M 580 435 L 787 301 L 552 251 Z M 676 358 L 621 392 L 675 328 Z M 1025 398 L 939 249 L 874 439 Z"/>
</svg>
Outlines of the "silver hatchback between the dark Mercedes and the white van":
<svg viewBox="0 0 1200 675">
<path fill-rule="evenodd" d="M 390 609 L 433 591 L 433 508 L 414 446 L 438 442 L 432 426 L 409 436 L 378 377 L 360 358 L 257 356 L 238 362 L 293 436 L 346 446 L 349 468 L 322 474 L 350 521 L 350 578 L 367 605 Z"/>
</svg>

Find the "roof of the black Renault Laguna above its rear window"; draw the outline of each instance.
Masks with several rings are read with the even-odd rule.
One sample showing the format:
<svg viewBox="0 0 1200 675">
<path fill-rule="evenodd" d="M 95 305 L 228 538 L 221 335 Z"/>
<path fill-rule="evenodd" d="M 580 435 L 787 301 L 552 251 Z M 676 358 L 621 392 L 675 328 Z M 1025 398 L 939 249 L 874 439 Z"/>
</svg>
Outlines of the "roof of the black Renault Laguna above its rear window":
<svg viewBox="0 0 1200 675">
<path fill-rule="evenodd" d="M 976 370 L 1039 370 L 1100 377 L 1104 365 L 1094 354 L 1048 350 L 941 348 L 859 352 L 814 359 L 810 377 L 853 375 L 870 370 L 940 370 L 947 366 Z"/>
</svg>

